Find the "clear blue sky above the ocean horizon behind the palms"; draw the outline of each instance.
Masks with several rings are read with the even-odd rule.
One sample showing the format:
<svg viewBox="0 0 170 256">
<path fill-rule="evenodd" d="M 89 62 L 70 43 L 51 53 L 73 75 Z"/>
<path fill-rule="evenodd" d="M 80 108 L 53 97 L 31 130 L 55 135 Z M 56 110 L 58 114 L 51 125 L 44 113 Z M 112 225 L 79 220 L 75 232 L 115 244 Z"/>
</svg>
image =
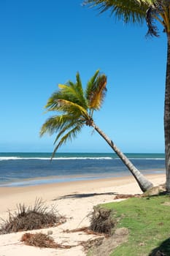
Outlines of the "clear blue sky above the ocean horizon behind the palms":
<svg viewBox="0 0 170 256">
<path fill-rule="evenodd" d="M 44 105 L 58 83 L 107 75 L 107 97 L 96 124 L 124 152 L 164 152 L 166 35 L 115 22 L 82 0 L 0 1 L 0 152 L 53 151 L 39 138 Z M 65 152 L 112 152 L 90 128 Z"/>
</svg>

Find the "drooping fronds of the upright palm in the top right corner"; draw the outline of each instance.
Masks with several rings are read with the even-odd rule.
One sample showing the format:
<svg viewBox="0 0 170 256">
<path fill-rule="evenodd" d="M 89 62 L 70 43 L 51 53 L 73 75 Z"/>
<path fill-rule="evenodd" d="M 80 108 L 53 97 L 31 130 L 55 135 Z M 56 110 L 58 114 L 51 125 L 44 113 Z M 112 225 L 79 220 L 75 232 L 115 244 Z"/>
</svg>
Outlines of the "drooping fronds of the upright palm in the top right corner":
<svg viewBox="0 0 170 256">
<path fill-rule="evenodd" d="M 166 33 L 170 33 L 169 0 L 85 0 L 84 4 L 97 7 L 100 13 L 109 10 L 111 15 L 124 23 L 141 24 L 147 21 L 147 35 L 158 37 L 155 20 L 163 25 Z"/>
</svg>

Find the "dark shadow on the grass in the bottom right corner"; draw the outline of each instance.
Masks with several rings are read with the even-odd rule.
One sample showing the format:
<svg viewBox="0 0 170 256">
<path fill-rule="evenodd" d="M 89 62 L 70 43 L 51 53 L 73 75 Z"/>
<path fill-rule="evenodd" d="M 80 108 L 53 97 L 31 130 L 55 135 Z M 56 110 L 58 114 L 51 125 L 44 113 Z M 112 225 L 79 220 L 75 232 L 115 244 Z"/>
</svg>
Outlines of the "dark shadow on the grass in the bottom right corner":
<svg viewBox="0 0 170 256">
<path fill-rule="evenodd" d="M 170 238 L 163 241 L 160 246 L 152 249 L 149 256 L 169 256 L 170 255 Z"/>
</svg>

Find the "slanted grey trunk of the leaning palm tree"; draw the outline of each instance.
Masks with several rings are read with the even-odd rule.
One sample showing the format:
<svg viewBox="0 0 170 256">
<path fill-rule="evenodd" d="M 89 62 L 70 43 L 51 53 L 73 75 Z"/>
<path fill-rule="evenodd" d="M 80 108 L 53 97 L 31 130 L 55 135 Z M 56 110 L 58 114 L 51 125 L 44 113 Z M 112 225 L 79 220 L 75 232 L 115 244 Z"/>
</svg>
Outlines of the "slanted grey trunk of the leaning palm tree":
<svg viewBox="0 0 170 256">
<path fill-rule="evenodd" d="M 132 173 L 132 175 L 136 179 L 137 183 L 139 184 L 139 187 L 142 189 L 142 192 L 145 192 L 148 189 L 150 189 L 151 187 L 153 187 L 152 183 L 150 181 L 148 181 L 146 178 L 144 178 L 142 173 L 140 173 L 139 170 L 136 169 L 136 167 L 134 167 L 134 165 L 128 159 L 128 157 L 125 157 L 125 154 L 123 154 L 123 152 L 121 152 L 119 150 L 119 148 L 117 148 L 117 146 L 115 146 L 115 143 L 113 143 L 112 140 L 110 140 L 109 137 L 107 137 L 107 135 L 105 135 L 104 132 L 102 132 L 101 129 L 99 129 L 96 126 L 96 124 L 93 123 L 93 127 L 94 127 L 94 129 L 96 129 L 96 132 L 98 132 L 99 135 L 101 135 L 101 137 L 104 138 L 104 140 L 107 141 L 109 146 L 115 151 L 117 156 L 120 157 L 120 159 L 123 161 L 125 166 L 128 167 L 128 170 L 130 170 L 130 172 Z"/>
</svg>

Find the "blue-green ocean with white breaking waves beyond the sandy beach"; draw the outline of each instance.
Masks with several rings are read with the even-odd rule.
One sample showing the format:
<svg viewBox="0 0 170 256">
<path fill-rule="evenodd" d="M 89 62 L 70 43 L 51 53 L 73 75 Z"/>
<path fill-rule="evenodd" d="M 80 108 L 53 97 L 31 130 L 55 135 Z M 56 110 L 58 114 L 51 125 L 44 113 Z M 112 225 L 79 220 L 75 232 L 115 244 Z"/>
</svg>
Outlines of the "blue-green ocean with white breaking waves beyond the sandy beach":
<svg viewBox="0 0 170 256">
<path fill-rule="evenodd" d="M 126 154 L 143 173 L 165 173 L 164 154 Z M 66 181 L 129 176 L 116 154 L 0 153 L 0 187 L 25 187 Z"/>
</svg>

